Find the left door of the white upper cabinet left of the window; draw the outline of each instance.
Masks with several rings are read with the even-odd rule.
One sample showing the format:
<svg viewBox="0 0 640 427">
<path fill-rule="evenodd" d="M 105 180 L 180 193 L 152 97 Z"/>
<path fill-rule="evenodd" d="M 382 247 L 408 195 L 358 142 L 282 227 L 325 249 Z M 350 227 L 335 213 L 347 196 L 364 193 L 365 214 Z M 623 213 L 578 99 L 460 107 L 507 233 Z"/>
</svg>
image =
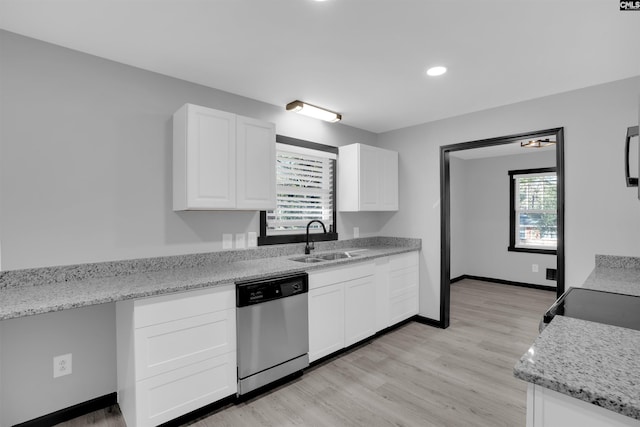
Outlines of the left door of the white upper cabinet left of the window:
<svg viewBox="0 0 640 427">
<path fill-rule="evenodd" d="M 174 209 L 234 208 L 235 114 L 196 105 L 187 105 L 185 114 L 184 135 L 177 123 L 179 119 L 174 120 L 174 177 L 184 174 L 184 188 L 180 188 L 179 177 L 174 179 L 174 191 L 178 192 Z M 184 153 L 180 153 L 181 150 Z"/>
</svg>

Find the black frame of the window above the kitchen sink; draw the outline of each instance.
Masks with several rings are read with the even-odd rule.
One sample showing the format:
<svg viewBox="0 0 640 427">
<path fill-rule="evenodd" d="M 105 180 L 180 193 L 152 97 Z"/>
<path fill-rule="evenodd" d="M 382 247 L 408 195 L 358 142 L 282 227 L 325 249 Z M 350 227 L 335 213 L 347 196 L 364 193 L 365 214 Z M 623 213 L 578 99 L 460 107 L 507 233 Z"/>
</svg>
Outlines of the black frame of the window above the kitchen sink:
<svg viewBox="0 0 640 427">
<path fill-rule="evenodd" d="M 291 138 L 284 135 L 276 135 L 276 142 L 280 144 L 293 145 L 295 147 L 308 148 L 316 151 L 324 151 L 327 153 L 333 153 L 338 155 L 338 147 L 332 147 L 330 145 L 318 144 L 316 142 L 305 141 L 302 139 Z M 337 163 L 337 160 L 336 160 Z M 333 167 L 333 232 L 325 233 L 313 233 L 314 242 L 326 242 L 332 240 L 338 240 L 337 232 L 337 210 L 336 204 L 338 200 L 337 196 L 337 182 L 336 171 L 337 164 Z M 280 234 L 275 236 L 267 236 L 267 211 L 260 211 L 260 235 L 258 236 L 258 246 L 266 245 L 281 245 L 287 243 L 304 243 L 306 242 L 306 233 L 301 234 Z"/>
</svg>

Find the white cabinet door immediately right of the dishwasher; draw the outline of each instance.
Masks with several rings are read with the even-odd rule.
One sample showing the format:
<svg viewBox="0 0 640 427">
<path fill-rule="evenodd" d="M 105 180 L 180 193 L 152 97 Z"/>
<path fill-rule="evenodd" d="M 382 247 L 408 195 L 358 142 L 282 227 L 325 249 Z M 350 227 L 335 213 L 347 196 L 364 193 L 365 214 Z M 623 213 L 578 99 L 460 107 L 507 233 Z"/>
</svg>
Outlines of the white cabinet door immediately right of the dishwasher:
<svg viewBox="0 0 640 427">
<path fill-rule="evenodd" d="M 309 361 L 344 348 L 344 285 L 309 291 Z"/>
</svg>

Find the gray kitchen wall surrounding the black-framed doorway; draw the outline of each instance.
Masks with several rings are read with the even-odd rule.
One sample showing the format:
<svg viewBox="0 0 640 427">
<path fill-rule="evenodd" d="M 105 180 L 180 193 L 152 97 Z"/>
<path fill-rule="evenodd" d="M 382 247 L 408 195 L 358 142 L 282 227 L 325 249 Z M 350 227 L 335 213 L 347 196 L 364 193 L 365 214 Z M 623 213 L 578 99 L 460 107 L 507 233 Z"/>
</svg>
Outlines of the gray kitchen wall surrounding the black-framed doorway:
<svg viewBox="0 0 640 427">
<path fill-rule="evenodd" d="M 584 282 L 597 253 L 640 255 L 640 202 L 623 173 L 639 94 L 640 76 L 378 135 L 380 146 L 400 153 L 400 210 L 381 233 L 422 238 L 422 315 L 440 318 L 443 145 L 564 126 L 566 285 Z"/>
</svg>

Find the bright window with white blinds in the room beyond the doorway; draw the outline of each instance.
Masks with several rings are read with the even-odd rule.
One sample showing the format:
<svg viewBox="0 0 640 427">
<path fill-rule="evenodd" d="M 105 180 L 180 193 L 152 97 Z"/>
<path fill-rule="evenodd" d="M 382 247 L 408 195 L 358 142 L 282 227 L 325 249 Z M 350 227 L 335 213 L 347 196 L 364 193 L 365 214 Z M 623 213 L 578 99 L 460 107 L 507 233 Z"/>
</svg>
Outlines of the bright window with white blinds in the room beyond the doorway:
<svg viewBox="0 0 640 427">
<path fill-rule="evenodd" d="M 514 175 L 516 247 L 555 249 L 558 178 L 555 172 Z"/>
</svg>

